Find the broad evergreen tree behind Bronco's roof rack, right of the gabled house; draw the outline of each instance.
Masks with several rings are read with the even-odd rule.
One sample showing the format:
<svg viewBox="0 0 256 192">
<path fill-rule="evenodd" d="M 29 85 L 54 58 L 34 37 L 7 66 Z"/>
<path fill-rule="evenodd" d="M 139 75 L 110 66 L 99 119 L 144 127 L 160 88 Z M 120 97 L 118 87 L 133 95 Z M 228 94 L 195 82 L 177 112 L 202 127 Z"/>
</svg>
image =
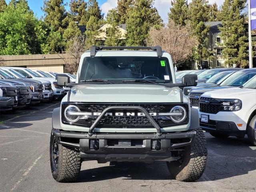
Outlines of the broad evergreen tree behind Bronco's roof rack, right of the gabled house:
<svg viewBox="0 0 256 192">
<path fill-rule="evenodd" d="M 150 27 L 162 26 L 162 19 L 153 7 L 153 0 L 134 0 L 127 10 L 126 44 L 145 46 Z"/>
</svg>

